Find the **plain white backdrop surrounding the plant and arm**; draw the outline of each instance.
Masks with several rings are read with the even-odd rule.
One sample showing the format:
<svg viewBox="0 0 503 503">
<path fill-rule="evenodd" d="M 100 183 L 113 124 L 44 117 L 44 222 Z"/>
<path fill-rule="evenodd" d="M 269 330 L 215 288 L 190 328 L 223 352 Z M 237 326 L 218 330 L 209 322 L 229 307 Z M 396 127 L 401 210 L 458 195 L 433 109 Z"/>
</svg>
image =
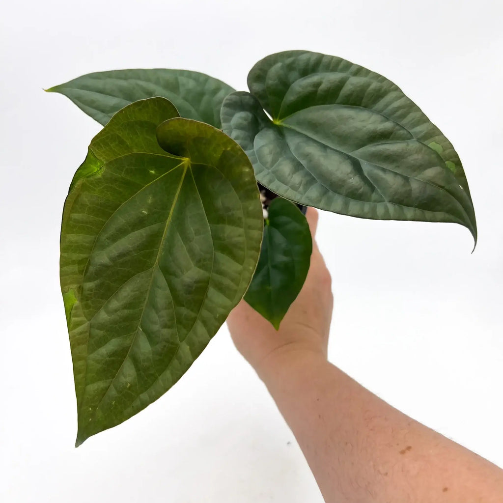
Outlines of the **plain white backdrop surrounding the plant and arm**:
<svg viewBox="0 0 503 503">
<path fill-rule="evenodd" d="M 58 285 L 71 177 L 100 126 L 42 89 L 92 71 L 186 68 L 246 90 L 309 49 L 393 80 L 456 147 L 479 242 L 455 224 L 323 214 L 330 360 L 503 466 L 503 16 L 490 0 L 8 2 L 0 15 L 0 500 L 320 503 L 274 402 L 224 327 L 153 405 L 78 449 Z"/>
</svg>

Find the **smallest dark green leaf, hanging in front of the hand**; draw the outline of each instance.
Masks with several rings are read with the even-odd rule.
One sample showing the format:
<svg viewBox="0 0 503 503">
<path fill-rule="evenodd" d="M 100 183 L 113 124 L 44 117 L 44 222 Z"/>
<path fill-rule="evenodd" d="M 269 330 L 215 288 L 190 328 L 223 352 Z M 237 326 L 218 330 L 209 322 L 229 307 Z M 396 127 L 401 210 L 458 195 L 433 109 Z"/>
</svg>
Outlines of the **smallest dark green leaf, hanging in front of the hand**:
<svg viewBox="0 0 503 503">
<path fill-rule="evenodd" d="M 278 329 L 306 279 L 312 240 L 295 204 L 277 197 L 268 210 L 259 264 L 244 300 Z"/>
</svg>

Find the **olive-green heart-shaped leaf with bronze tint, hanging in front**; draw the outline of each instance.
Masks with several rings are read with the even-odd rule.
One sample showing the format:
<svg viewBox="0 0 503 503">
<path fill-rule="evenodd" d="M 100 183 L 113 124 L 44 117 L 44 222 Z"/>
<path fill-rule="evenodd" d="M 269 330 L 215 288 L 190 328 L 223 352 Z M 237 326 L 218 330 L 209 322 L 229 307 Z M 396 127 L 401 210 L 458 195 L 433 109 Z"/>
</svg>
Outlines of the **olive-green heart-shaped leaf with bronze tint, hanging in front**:
<svg viewBox="0 0 503 503">
<path fill-rule="evenodd" d="M 114 115 L 65 202 L 60 267 L 76 445 L 177 382 L 259 259 L 262 208 L 246 155 L 212 126 L 174 116 L 163 98 Z"/>
</svg>

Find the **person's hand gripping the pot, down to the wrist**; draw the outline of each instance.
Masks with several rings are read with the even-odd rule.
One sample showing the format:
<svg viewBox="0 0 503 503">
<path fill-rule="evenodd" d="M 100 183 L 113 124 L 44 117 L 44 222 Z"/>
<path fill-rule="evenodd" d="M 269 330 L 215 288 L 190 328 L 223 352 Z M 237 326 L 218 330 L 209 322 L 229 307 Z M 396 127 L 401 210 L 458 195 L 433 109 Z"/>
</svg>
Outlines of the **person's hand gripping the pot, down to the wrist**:
<svg viewBox="0 0 503 503">
<path fill-rule="evenodd" d="M 306 218 L 313 238 L 309 272 L 280 329 L 276 330 L 244 300 L 227 318 L 236 348 L 262 378 L 268 368 L 292 358 L 307 356 L 326 361 L 333 307 L 331 278 L 314 239 L 318 212 L 308 208 Z"/>
</svg>

